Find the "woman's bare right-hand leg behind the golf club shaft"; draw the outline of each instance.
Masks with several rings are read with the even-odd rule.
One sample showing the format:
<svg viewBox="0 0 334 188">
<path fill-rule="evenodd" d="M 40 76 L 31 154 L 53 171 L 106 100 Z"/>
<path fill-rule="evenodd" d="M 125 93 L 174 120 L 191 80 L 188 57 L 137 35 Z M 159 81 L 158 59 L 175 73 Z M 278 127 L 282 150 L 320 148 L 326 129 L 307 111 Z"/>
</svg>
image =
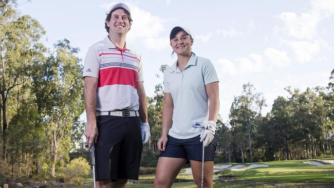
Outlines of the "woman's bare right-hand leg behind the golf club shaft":
<svg viewBox="0 0 334 188">
<path fill-rule="evenodd" d="M 190 160 L 191 171 L 197 187 L 200 188 L 202 181 L 202 161 Z M 213 187 L 213 161 L 204 162 L 204 187 Z"/>
</svg>

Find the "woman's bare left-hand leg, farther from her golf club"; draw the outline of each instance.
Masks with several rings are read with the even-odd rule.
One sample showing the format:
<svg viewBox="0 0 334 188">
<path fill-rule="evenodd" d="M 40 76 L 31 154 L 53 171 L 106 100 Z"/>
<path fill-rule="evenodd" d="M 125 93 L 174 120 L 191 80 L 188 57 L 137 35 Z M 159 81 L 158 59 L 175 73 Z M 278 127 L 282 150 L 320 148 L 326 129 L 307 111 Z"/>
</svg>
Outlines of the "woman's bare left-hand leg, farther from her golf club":
<svg viewBox="0 0 334 188">
<path fill-rule="evenodd" d="M 154 187 L 171 187 L 185 162 L 187 162 L 187 159 L 159 157 L 154 179 Z"/>
</svg>

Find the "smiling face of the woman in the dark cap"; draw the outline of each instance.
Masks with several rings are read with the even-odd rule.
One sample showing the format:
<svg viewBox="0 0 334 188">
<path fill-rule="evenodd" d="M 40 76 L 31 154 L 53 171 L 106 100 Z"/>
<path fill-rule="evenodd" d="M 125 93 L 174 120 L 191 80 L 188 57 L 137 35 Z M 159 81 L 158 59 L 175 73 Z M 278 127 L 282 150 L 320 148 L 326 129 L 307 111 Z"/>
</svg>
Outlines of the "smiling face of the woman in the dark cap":
<svg viewBox="0 0 334 188">
<path fill-rule="evenodd" d="M 191 54 L 193 42 L 194 40 L 188 33 L 180 31 L 171 40 L 171 47 L 178 55 L 189 55 Z"/>
</svg>

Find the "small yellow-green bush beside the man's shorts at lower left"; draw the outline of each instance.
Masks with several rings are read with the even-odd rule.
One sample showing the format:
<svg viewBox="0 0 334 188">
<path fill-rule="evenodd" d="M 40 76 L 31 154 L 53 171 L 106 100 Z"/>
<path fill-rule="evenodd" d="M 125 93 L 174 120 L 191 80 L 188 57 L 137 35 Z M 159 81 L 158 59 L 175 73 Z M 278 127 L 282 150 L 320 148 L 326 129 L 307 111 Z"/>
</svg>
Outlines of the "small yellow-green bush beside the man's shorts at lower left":
<svg viewBox="0 0 334 188">
<path fill-rule="evenodd" d="M 65 167 L 60 170 L 59 179 L 64 182 L 73 182 L 82 184 L 84 178 L 88 176 L 90 165 L 83 157 L 71 160 Z"/>
</svg>

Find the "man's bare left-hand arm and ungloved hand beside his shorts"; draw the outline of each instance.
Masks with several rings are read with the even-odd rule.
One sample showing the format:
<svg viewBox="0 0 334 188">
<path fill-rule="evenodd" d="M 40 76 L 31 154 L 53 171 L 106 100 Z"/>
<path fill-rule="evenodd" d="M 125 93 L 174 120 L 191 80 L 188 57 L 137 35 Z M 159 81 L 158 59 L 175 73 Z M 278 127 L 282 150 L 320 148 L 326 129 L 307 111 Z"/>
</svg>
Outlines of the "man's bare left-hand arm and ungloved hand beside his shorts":
<svg viewBox="0 0 334 188">
<path fill-rule="evenodd" d="M 98 79 L 94 77 L 85 77 L 84 84 L 84 98 L 87 115 L 87 125 L 84 134 L 87 138 L 88 148 L 90 148 L 93 141 L 96 142 L 98 138 L 98 128 L 96 125 L 96 89 Z"/>
</svg>

